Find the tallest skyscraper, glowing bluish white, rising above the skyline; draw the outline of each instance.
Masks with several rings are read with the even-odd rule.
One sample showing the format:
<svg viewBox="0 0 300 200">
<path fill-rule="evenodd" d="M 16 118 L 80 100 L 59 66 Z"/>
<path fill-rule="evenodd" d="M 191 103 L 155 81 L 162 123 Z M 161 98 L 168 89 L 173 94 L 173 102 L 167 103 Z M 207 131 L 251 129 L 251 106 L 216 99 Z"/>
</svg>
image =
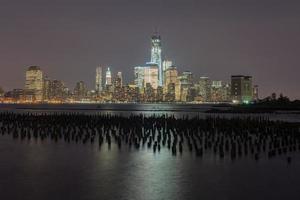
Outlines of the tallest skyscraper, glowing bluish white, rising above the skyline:
<svg viewBox="0 0 300 200">
<path fill-rule="evenodd" d="M 151 38 L 151 63 L 156 63 L 158 65 L 158 84 L 163 86 L 163 69 L 162 69 L 162 59 L 161 59 L 161 38 L 156 33 Z"/>
</svg>

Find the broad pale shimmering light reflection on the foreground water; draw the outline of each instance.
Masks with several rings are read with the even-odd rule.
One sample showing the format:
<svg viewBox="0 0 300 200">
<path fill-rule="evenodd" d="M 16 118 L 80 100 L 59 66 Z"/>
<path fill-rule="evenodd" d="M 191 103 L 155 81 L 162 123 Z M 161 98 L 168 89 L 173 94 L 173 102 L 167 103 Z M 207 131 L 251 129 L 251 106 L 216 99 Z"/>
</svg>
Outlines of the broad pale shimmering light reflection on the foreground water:
<svg viewBox="0 0 300 200">
<path fill-rule="evenodd" d="M 180 172 L 183 160 L 176 157 L 170 160 L 165 150 L 157 155 L 151 150 L 142 154 L 130 154 L 132 162 L 137 163 L 128 168 L 125 182 L 131 195 L 136 199 L 184 199 L 178 192 L 184 185 Z"/>
</svg>

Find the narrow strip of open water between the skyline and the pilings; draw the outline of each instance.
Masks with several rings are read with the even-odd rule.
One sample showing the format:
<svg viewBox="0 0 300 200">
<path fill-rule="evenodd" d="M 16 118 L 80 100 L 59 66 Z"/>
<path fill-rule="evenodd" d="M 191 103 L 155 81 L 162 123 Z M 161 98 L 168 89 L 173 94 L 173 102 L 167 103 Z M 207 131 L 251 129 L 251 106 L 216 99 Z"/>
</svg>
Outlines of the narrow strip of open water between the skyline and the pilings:
<svg viewBox="0 0 300 200">
<path fill-rule="evenodd" d="M 217 107 L 214 107 L 217 106 Z M 284 120 L 290 122 L 300 122 L 300 114 L 294 112 L 241 114 L 241 113 L 205 113 L 212 108 L 228 110 L 228 106 L 218 104 L 65 104 L 65 105 L 15 105 L 0 104 L 0 112 L 15 113 L 83 113 L 83 114 L 115 114 L 128 116 L 131 114 L 143 115 L 174 115 L 182 116 L 221 116 L 226 118 L 241 116 L 263 116 L 271 120 Z"/>
</svg>

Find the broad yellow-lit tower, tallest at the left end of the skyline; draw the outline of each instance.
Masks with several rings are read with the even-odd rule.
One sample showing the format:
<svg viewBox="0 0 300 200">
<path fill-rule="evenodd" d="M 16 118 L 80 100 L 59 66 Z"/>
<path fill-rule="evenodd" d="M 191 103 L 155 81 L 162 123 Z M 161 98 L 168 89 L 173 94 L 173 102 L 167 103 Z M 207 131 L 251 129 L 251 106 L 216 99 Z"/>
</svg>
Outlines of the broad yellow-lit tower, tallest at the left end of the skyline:
<svg viewBox="0 0 300 200">
<path fill-rule="evenodd" d="M 40 67 L 31 66 L 26 71 L 25 94 L 36 101 L 43 100 L 43 72 Z"/>
</svg>

